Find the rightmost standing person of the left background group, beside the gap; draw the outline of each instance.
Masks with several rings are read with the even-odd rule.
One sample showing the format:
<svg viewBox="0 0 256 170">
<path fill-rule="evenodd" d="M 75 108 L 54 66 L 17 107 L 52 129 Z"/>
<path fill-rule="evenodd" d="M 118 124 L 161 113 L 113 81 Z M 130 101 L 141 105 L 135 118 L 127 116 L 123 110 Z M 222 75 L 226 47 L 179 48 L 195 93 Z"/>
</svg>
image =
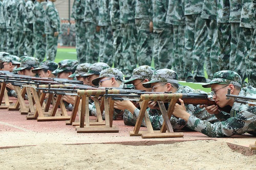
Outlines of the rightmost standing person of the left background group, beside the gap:
<svg viewBox="0 0 256 170">
<path fill-rule="evenodd" d="M 53 4 L 56 0 L 49 0 L 46 6 L 46 60 L 55 60 L 60 30 L 59 13 Z"/>
</svg>

